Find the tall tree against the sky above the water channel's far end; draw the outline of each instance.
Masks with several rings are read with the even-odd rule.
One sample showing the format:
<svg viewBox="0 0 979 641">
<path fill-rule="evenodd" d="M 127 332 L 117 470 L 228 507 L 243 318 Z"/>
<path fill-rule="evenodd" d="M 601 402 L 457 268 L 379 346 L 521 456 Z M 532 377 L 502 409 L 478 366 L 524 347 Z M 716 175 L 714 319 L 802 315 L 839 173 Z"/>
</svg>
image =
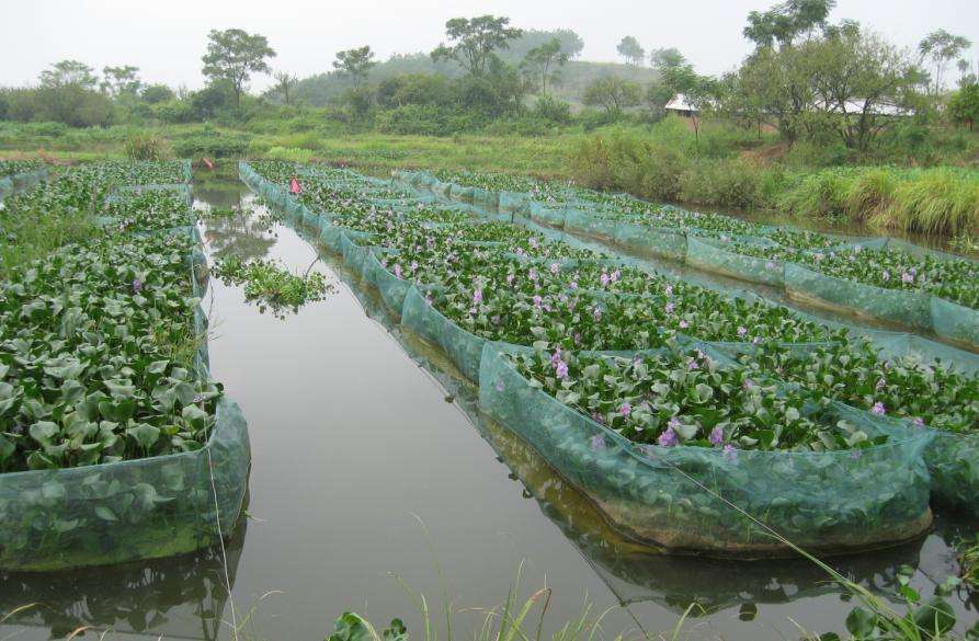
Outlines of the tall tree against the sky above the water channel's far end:
<svg viewBox="0 0 979 641">
<path fill-rule="evenodd" d="M 263 35 L 251 35 L 240 28 L 226 31 L 212 30 L 207 34 L 207 53 L 201 58 L 202 72 L 212 82 L 227 80 L 235 91 L 235 104 L 241 105 L 244 91 L 252 73 L 271 71 L 265 58 L 275 57 Z"/>
</svg>

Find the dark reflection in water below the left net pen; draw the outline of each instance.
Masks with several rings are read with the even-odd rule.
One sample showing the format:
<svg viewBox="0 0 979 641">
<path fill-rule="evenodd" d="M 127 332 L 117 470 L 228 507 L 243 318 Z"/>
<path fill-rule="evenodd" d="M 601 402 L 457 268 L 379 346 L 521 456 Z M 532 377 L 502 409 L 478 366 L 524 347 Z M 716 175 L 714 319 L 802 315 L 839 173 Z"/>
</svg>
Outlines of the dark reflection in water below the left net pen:
<svg viewBox="0 0 979 641">
<path fill-rule="evenodd" d="M 65 572 L 0 573 L 0 613 L 33 604 L 4 622 L 4 638 L 58 639 L 89 631 L 153 633 L 168 638 L 219 638 L 244 543 L 247 519 L 220 547 L 193 554 Z"/>
</svg>

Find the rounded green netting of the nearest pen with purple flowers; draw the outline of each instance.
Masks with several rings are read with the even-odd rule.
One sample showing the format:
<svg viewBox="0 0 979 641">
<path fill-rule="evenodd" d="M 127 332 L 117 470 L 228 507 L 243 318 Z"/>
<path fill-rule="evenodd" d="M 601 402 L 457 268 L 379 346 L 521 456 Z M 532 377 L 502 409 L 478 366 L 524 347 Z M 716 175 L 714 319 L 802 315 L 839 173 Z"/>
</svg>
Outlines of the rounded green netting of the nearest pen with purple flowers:
<svg viewBox="0 0 979 641">
<path fill-rule="evenodd" d="M 857 451 L 726 453 L 637 446 L 531 385 L 487 344 L 480 408 L 530 443 L 628 536 L 671 551 L 841 551 L 914 537 L 931 524 L 930 435 Z M 873 417 L 861 427 L 874 433 Z M 736 510 L 737 508 L 737 510 Z"/>
</svg>

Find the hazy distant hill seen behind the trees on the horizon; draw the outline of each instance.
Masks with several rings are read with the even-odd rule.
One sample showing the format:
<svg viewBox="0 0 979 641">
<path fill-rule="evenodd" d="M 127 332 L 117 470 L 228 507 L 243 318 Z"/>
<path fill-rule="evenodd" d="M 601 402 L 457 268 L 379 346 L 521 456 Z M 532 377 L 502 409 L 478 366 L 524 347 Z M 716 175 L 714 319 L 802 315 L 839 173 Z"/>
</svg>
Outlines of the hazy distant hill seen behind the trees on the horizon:
<svg viewBox="0 0 979 641">
<path fill-rule="evenodd" d="M 556 30 L 551 32 L 528 31 L 523 37 L 513 43 L 506 50 L 500 51 L 500 58 L 511 65 L 519 65 L 526 51 L 546 42 L 551 37 L 561 41 L 564 50 L 572 58 L 577 56 L 584 43 L 572 31 Z M 448 78 L 456 78 L 462 69 L 453 62 L 434 64 L 426 53 L 395 55 L 384 62 L 379 62 L 371 70 L 367 82 L 376 84 L 387 78 L 405 73 L 442 73 Z M 639 82 L 644 87 L 656 80 L 657 73 L 649 67 L 636 67 L 617 62 L 590 62 L 587 60 L 570 60 L 561 70 L 561 83 L 553 88 L 554 95 L 580 106 L 581 96 L 589 82 L 602 76 L 619 76 L 622 78 Z M 334 71 L 318 73 L 299 80 L 293 95 L 297 101 L 314 106 L 323 106 L 352 87 L 352 81 Z M 276 100 L 273 91 L 266 92 L 266 96 Z"/>
</svg>

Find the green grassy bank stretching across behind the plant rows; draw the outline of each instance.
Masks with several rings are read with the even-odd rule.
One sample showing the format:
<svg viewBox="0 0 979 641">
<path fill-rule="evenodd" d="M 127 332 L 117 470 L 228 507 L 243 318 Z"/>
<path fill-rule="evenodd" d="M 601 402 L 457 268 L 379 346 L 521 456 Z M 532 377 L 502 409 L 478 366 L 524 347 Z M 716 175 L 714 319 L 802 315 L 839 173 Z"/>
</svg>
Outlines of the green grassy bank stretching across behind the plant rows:
<svg viewBox="0 0 979 641">
<path fill-rule="evenodd" d="M 772 135 L 724 123 L 704 123 L 694 133 L 678 118 L 594 133 L 569 128 L 542 137 L 340 134 L 327 127 L 288 130 L 266 125 L 70 129 L 49 123 L 7 124 L 0 127 L 0 157 L 124 157 L 135 136 L 152 136 L 164 154 L 183 158 L 323 160 L 377 174 L 420 168 L 509 172 L 574 180 L 652 201 L 845 218 L 881 230 L 979 233 L 979 135 L 968 133 L 946 142 L 957 150 L 954 154 L 921 151 L 922 160 L 946 164 L 899 167 L 840 165 L 901 159 L 853 159 L 841 150 L 802 145 L 788 149 Z M 911 161 L 917 160 L 904 159 Z"/>
</svg>

